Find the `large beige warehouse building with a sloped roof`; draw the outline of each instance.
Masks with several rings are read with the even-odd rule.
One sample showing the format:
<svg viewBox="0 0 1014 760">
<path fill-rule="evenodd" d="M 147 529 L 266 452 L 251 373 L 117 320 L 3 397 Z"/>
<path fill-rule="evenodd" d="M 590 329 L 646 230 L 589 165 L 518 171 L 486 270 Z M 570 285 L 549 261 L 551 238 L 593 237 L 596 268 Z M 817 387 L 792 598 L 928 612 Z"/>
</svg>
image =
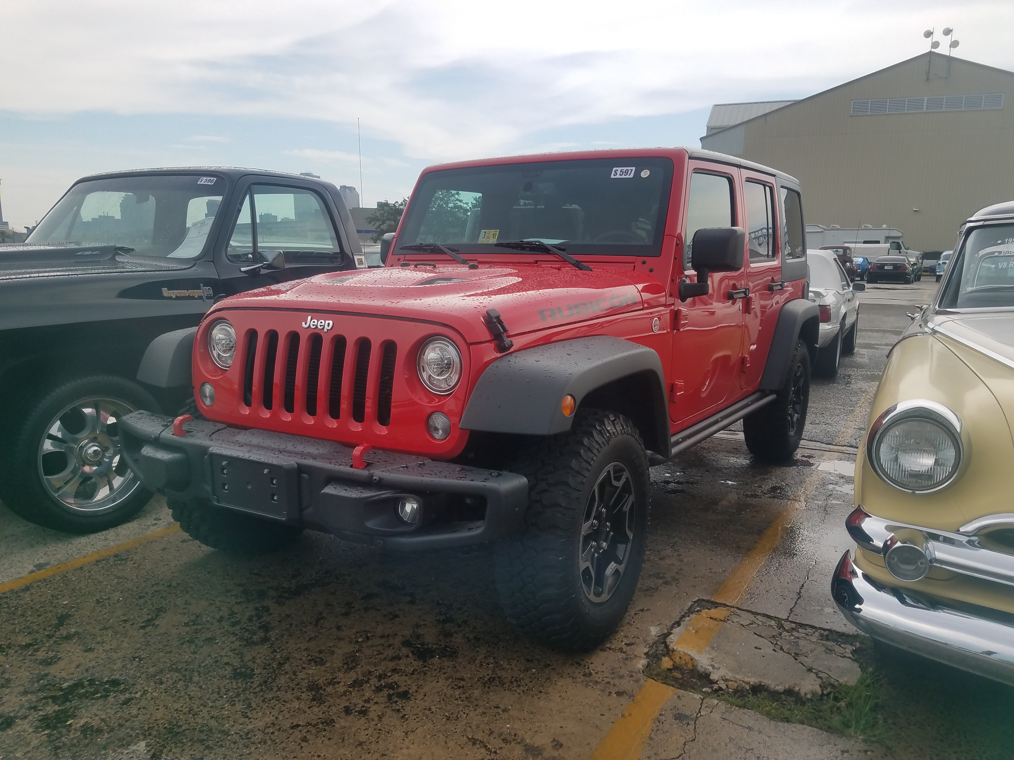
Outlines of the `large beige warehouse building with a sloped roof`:
<svg viewBox="0 0 1014 760">
<path fill-rule="evenodd" d="M 701 145 L 798 177 L 808 224 L 887 225 L 941 250 L 1014 200 L 1012 97 L 1014 72 L 923 54 L 802 100 L 715 105 Z"/>
</svg>

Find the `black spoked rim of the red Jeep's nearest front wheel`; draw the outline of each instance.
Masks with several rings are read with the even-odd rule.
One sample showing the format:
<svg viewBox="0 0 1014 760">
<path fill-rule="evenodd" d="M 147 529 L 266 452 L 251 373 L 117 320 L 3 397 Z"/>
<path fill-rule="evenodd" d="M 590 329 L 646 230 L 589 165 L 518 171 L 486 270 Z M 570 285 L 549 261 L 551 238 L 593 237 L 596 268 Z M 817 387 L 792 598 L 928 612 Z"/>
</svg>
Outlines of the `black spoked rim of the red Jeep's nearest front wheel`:
<svg viewBox="0 0 1014 760">
<path fill-rule="evenodd" d="M 631 556 L 634 478 L 620 462 L 606 465 L 588 495 L 581 524 L 581 589 L 591 602 L 612 596 Z"/>
</svg>

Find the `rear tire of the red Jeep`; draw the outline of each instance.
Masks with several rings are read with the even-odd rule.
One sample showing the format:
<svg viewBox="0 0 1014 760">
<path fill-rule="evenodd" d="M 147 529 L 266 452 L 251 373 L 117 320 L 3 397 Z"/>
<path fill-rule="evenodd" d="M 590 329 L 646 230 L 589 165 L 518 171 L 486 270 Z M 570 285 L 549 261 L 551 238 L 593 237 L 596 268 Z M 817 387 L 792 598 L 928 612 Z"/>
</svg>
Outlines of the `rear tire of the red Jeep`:
<svg viewBox="0 0 1014 760">
<path fill-rule="evenodd" d="M 743 419 L 746 448 L 755 459 L 770 463 L 792 459 L 803 440 L 809 401 L 810 355 L 797 340 L 775 400 Z"/>
</svg>

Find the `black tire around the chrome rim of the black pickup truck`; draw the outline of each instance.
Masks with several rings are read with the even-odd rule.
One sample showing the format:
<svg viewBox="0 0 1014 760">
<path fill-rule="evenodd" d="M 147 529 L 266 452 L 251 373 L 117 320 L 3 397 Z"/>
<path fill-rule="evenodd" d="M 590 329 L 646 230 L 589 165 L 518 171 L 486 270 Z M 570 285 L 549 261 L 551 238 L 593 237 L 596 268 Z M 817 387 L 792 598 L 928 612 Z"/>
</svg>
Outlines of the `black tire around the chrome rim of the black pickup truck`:
<svg viewBox="0 0 1014 760">
<path fill-rule="evenodd" d="M 5 438 L 10 443 L 2 454 L 6 461 L 5 475 L 0 479 L 0 499 L 14 514 L 37 525 L 66 533 L 95 533 L 127 522 L 151 501 L 152 491 L 130 474 L 126 460 L 115 460 L 118 462 L 116 471 L 119 473 L 116 476 L 127 478 L 122 497 L 112 498 L 104 507 L 83 503 L 80 508 L 66 505 L 54 496 L 44 480 L 40 447 L 46 440 L 56 440 L 58 443 L 63 441 L 59 436 L 56 439 L 51 437 L 52 426 L 58 419 L 65 419 L 62 415 L 64 410 L 70 412 L 68 407 L 85 405 L 95 399 L 112 400 L 125 411 L 159 411 L 158 402 L 148 391 L 137 383 L 116 375 L 92 375 L 58 381 L 41 392 L 25 390 L 10 404 L 10 411 L 6 412 L 10 414 L 10 419 L 5 426 Z M 107 428 L 106 433 L 113 433 L 113 426 Z M 119 440 L 118 435 L 114 438 Z M 116 451 L 116 443 L 104 441 L 104 444 Z M 66 456 L 68 466 L 74 466 L 71 465 L 74 455 L 68 453 Z M 73 471 L 85 470 L 78 465 Z M 73 478 L 70 471 L 67 477 L 67 481 L 71 482 Z M 94 478 L 92 480 L 95 482 Z M 102 484 L 94 487 L 105 486 Z M 75 491 L 74 499 L 78 499 L 78 491 Z"/>
</svg>

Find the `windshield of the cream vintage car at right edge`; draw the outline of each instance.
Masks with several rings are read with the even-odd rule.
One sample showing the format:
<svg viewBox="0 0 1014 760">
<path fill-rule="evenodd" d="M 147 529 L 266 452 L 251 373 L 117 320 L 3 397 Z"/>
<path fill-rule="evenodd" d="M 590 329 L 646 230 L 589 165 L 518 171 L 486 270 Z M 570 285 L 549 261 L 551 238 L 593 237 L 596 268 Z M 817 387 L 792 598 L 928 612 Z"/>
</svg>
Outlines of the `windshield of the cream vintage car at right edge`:
<svg viewBox="0 0 1014 760">
<path fill-rule="evenodd" d="M 1014 306 L 1014 224 L 972 229 L 953 261 L 942 308 Z"/>
</svg>

